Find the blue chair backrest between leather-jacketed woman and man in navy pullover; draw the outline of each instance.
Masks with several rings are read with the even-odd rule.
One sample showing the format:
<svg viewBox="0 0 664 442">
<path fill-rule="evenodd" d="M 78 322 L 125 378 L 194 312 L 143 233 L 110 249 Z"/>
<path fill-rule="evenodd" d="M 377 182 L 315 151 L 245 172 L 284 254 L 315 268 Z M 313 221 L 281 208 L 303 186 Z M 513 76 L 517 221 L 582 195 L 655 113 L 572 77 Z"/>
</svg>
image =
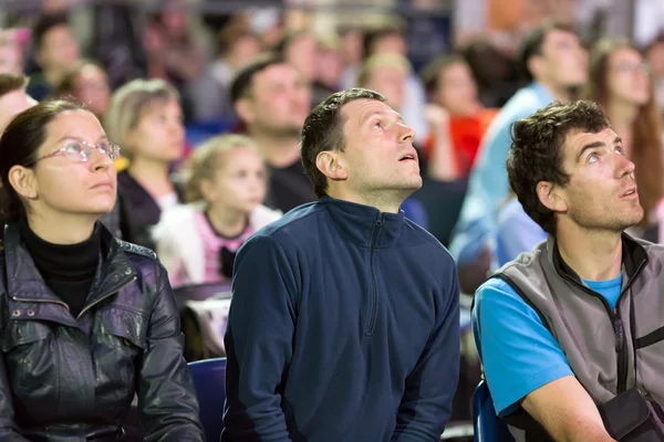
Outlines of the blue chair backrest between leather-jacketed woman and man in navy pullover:
<svg viewBox="0 0 664 442">
<path fill-rule="evenodd" d="M 206 359 L 189 364 L 198 397 L 200 423 L 207 441 L 218 441 L 224 430 L 226 401 L 226 358 Z"/>
</svg>

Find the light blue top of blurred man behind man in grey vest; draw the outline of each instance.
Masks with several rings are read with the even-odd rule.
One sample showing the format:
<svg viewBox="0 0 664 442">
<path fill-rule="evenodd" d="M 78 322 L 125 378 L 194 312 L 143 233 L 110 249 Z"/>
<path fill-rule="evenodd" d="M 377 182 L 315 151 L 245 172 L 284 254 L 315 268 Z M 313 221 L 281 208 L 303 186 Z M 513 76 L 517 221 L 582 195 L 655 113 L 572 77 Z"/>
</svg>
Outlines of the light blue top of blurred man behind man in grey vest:
<svg viewBox="0 0 664 442">
<path fill-rule="evenodd" d="M 494 245 L 498 206 L 507 200 L 509 182 L 505 161 L 511 146 L 511 125 L 553 102 L 539 83 L 520 88 L 500 109 L 485 134 L 449 251 L 459 266 L 474 262 L 487 245 Z"/>
</svg>

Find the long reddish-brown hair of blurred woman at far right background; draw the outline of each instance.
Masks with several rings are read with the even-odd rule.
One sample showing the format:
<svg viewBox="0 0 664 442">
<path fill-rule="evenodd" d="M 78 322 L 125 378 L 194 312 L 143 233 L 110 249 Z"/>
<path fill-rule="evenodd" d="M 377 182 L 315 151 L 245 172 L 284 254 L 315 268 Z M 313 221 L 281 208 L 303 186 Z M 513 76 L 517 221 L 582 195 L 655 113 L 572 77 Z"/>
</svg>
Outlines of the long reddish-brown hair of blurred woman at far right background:
<svg viewBox="0 0 664 442">
<path fill-rule="evenodd" d="M 611 55 L 621 50 L 634 50 L 626 40 L 600 40 L 590 52 L 590 75 L 588 85 L 583 92 L 583 98 L 592 99 L 606 106 L 610 101 L 609 92 L 609 62 Z M 632 143 L 629 157 L 636 166 L 636 186 L 639 186 L 639 199 L 645 211 L 641 221 L 642 227 L 647 227 L 652 220 L 657 201 L 664 194 L 662 175 L 662 122 L 655 103 L 654 82 L 651 81 L 651 98 L 641 106 L 634 123 L 632 124 Z"/>
</svg>

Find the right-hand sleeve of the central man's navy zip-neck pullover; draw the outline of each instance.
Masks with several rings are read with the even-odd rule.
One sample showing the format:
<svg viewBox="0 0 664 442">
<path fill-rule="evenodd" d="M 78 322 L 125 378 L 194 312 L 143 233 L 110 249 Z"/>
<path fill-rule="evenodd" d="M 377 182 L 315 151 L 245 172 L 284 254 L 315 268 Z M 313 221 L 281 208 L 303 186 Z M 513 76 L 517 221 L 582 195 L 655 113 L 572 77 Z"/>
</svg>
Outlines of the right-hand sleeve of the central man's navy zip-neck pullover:
<svg viewBox="0 0 664 442">
<path fill-rule="evenodd" d="M 452 415 L 459 364 L 459 285 L 449 265 L 436 299 L 437 319 L 417 365 L 406 378 L 392 442 L 438 441 Z"/>
</svg>

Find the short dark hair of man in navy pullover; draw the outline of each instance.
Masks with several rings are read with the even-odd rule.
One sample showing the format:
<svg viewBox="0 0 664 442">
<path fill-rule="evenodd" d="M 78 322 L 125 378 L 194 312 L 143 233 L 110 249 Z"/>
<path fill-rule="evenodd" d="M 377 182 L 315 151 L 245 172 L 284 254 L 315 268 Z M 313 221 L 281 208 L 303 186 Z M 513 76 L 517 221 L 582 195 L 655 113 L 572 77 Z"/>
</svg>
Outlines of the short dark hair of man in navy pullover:
<svg viewBox="0 0 664 442">
<path fill-rule="evenodd" d="M 356 99 L 376 99 L 385 103 L 385 97 L 377 92 L 353 87 L 330 95 L 304 120 L 300 138 L 302 166 L 319 198 L 328 194 L 328 177 L 319 170 L 315 159 L 325 150 L 343 151 L 345 148 L 343 127 L 346 119 L 343 117 L 342 108 Z"/>
</svg>

